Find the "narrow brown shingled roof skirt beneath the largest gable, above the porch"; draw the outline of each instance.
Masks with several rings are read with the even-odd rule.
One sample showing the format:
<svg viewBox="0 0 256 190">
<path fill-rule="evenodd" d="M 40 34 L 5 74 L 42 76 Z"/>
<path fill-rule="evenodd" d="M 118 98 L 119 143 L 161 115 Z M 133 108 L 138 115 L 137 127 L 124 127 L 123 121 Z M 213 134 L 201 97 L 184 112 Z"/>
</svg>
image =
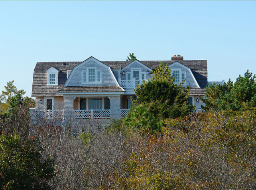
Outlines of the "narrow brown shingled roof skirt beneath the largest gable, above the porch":
<svg viewBox="0 0 256 190">
<path fill-rule="evenodd" d="M 58 92 L 125 92 L 120 86 L 66 86 Z"/>
</svg>

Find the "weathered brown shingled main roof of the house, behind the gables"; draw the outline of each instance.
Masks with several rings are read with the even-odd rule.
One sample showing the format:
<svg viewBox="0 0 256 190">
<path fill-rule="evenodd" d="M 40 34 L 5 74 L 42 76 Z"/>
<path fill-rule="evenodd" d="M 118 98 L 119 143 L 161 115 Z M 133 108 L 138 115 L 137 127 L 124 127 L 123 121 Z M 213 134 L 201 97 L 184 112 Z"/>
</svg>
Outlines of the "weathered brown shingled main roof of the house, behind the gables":
<svg viewBox="0 0 256 190">
<path fill-rule="evenodd" d="M 58 94 L 58 91 L 63 88 L 63 85 L 67 79 L 67 70 L 72 70 L 75 66 L 83 61 L 60 61 L 60 62 L 37 62 L 33 74 L 32 84 L 32 96 L 62 96 Z M 111 69 L 122 69 L 132 63 L 132 61 L 101 61 L 105 65 L 108 65 Z M 161 61 L 140 61 L 145 66 L 154 69 Z M 175 61 L 162 61 L 163 66 L 171 65 Z M 189 67 L 195 76 L 199 86 L 205 88 L 207 86 L 207 60 L 179 60 L 177 61 L 186 67 Z M 65 63 L 63 65 L 63 63 Z M 48 86 L 47 83 L 47 71 L 49 68 L 55 67 L 59 69 L 58 86 Z M 98 87 L 96 87 L 98 88 Z M 119 87 L 118 87 L 119 88 Z M 88 88 L 89 89 L 89 88 Z M 74 89 L 75 90 L 75 89 Z M 92 89 L 91 89 L 92 90 Z M 197 92 L 196 92 L 197 91 Z M 61 90 L 61 92 L 64 92 Z M 195 88 L 189 90 L 191 95 L 201 94 L 204 95 L 203 89 Z"/>
</svg>

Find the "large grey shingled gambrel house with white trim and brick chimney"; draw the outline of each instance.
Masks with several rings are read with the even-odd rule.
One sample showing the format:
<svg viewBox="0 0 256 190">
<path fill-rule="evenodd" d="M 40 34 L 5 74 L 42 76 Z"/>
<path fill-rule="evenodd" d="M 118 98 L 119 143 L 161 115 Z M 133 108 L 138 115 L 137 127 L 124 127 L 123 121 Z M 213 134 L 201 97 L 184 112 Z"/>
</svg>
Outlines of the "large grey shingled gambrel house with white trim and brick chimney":
<svg viewBox="0 0 256 190">
<path fill-rule="evenodd" d="M 32 123 L 37 119 L 120 118 L 136 98 L 134 89 L 150 80 L 152 70 L 161 61 L 99 61 L 89 57 L 82 62 L 38 62 L 33 72 L 30 109 Z M 201 108 L 199 96 L 205 96 L 207 60 L 183 60 L 180 55 L 162 61 L 176 75 L 178 84 L 190 84 L 189 104 Z"/>
</svg>

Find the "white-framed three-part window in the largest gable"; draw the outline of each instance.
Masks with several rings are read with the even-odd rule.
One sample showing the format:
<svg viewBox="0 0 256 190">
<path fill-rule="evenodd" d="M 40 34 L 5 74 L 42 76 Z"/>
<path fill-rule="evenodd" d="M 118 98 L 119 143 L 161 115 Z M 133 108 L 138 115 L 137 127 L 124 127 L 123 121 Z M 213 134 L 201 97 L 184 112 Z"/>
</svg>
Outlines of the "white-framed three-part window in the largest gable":
<svg viewBox="0 0 256 190">
<path fill-rule="evenodd" d="M 87 71 L 82 72 L 83 82 L 101 82 L 101 71 L 96 68 L 87 68 Z"/>
</svg>

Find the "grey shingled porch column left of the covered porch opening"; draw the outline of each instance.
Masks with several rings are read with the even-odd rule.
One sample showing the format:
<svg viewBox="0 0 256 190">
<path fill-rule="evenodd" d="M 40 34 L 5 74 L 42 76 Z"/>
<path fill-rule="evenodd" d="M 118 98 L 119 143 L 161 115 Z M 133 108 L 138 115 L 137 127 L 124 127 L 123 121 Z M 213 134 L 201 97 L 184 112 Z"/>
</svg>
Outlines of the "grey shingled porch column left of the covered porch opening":
<svg viewBox="0 0 256 190">
<path fill-rule="evenodd" d="M 69 123 L 74 119 L 74 97 L 64 97 L 64 120 Z"/>
</svg>

